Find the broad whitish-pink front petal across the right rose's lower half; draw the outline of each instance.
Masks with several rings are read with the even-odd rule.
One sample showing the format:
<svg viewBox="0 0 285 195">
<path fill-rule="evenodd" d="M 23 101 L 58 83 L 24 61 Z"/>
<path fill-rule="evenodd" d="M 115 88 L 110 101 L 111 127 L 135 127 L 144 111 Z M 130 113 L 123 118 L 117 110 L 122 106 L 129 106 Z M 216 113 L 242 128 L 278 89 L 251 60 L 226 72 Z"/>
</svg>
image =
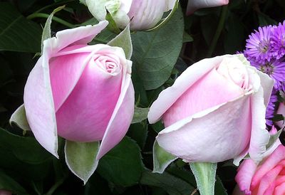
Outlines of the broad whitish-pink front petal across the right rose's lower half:
<svg viewBox="0 0 285 195">
<path fill-rule="evenodd" d="M 187 162 L 221 162 L 248 147 L 250 95 L 198 112 L 157 135 L 160 147 Z M 232 144 L 234 143 L 234 144 Z"/>
</svg>

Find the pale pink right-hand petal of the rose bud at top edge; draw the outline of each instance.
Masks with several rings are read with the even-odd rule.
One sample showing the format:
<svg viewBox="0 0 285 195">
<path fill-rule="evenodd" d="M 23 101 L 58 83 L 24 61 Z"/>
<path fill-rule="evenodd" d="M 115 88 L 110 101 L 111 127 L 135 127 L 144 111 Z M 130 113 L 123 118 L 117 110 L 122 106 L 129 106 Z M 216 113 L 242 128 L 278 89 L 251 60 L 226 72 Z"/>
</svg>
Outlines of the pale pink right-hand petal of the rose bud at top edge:
<svg viewBox="0 0 285 195">
<path fill-rule="evenodd" d="M 133 0 L 128 13 L 132 30 L 152 28 L 162 19 L 163 13 L 172 4 L 166 0 Z M 173 4 L 174 6 L 174 4 Z"/>
</svg>

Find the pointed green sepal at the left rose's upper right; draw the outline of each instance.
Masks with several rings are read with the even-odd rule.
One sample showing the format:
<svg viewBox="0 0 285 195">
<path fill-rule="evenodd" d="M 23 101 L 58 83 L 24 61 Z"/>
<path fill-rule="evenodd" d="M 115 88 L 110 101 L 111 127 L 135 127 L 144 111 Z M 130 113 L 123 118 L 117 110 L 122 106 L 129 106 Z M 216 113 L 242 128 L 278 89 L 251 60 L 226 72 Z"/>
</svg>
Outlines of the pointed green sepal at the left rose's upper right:
<svg viewBox="0 0 285 195">
<path fill-rule="evenodd" d="M 130 38 L 130 25 L 126 26 L 125 29 L 120 34 L 118 34 L 118 36 L 113 38 L 108 43 L 108 45 L 123 48 L 125 51 L 125 58 L 130 60 L 130 57 L 132 57 L 133 53 L 133 45 Z"/>
</svg>

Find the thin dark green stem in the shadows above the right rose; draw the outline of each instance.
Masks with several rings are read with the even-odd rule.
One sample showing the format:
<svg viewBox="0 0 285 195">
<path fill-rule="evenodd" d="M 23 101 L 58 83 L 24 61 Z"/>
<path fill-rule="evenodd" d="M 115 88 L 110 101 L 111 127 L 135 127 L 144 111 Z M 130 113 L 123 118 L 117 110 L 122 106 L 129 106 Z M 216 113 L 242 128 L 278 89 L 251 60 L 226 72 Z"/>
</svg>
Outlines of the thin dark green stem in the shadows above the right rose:
<svg viewBox="0 0 285 195">
<path fill-rule="evenodd" d="M 226 21 L 226 16 L 227 16 L 227 5 L 222 6 L 222 12 L 221 12 L 221 15 L 219 16 L 219 23 L 217 26 L 217 31 L 214 33 L 214 37 L 212 39 L 211 45 L 209 46 L 209 51 L 207 53 L 207 57 L 212 56 L 214 48 L 216 48 L 216 46 L 217 46 L 219 36 L 221 35 L 222 29 L 224 28 L 224 21 Z"/>
</svg>

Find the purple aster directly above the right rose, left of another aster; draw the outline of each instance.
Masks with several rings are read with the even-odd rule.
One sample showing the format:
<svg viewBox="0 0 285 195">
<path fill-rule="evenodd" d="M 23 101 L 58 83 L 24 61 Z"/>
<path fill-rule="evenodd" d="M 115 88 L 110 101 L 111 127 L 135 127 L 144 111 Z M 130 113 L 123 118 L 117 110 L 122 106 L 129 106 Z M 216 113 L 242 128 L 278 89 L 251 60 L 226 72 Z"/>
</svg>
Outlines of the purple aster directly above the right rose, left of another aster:
<svg viewBox="0 0 285 195">
<path fill-rule="evenodd" d="M 272 26 L 259 27 L 247 39 L 244 56 L 259 63 L 271 60 L 271 28 Z"/>
</svg>

